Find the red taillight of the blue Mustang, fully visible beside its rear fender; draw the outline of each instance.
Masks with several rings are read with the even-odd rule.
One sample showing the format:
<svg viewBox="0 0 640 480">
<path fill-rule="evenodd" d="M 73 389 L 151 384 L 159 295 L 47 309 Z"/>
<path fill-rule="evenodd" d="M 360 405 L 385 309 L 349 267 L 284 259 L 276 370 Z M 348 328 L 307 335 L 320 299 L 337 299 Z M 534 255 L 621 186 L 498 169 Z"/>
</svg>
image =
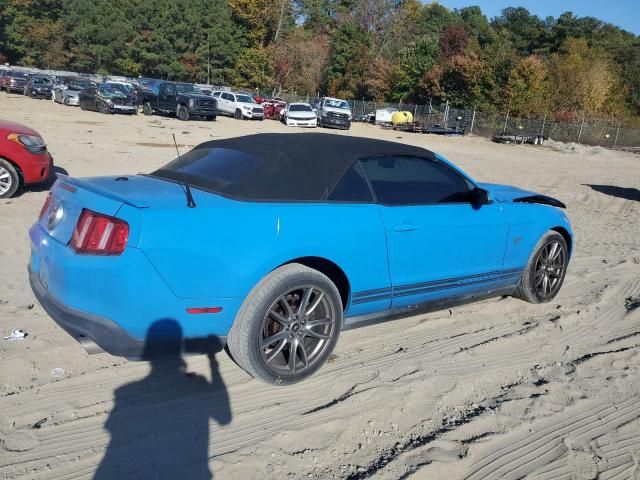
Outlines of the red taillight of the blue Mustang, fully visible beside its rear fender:
<svg viewBox="0 0 640 480">
<path fill-rule="evenodd" d="M 129 224 L 91 210 L 82 210 L 69 245 L 78 253 L 120 255 L 129 238 Z"/>
</svg>

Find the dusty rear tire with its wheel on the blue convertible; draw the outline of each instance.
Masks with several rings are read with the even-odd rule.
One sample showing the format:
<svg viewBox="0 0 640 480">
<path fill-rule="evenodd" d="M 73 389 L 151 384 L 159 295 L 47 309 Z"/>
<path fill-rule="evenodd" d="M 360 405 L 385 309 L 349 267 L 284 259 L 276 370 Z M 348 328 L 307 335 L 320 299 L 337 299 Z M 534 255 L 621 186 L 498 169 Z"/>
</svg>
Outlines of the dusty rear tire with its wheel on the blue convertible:
<svg viewBox="0 0 640 480">
<path fill-rule="evenodd" d="M 308 296 L 307 291 L 311 292 Z M 305 297 L 312 310 L 300 319 L 298 310 Z M 289 315 L 282 303 L 289 302 L 285 298 L 292 302 L 287 303 Z M 291 321 L 285 326 L 277 317 Z M 322 331 L 313 330 L 317 328 Z M 229 332 L 227 345 L 233 359 L 253 377 L 288 385 L 312 375 L 327 361 L 341 328 L 342 302 L 333 282 L 317 270 L 291 263 L 271 272 L 249 293 Z M 265 335 L 273 339 L 272 343 L 264 342 Z"/>
</svg>

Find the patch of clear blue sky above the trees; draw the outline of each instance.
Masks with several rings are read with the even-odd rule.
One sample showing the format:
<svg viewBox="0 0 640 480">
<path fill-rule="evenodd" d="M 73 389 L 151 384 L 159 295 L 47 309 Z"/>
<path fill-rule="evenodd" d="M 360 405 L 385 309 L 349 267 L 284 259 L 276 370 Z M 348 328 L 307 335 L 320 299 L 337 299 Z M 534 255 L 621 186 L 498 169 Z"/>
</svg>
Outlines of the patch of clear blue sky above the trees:
<svg viewBox="0 0 640 480">
<path fill-rule="evenodd" d="M 596 17 L 640 35 L 640 0 L 440 0 L 438 3 L 449 8 L 479 5 L 489 19 L 500 15 L 506 7 L 525 7 L 542 19 L 569 11 L 577 17 Z"/>
</svg>

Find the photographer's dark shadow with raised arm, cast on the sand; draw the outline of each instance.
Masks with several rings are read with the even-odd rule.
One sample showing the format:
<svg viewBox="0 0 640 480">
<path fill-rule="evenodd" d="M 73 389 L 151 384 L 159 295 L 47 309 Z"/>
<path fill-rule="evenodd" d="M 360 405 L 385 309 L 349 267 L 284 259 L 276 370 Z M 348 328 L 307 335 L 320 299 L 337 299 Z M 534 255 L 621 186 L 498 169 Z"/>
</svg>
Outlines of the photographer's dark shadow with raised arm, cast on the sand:
<svg viewBox="0 0 640 480">
<path fill-rule="evenodd" d="M 187 351 L 208 354 L 209 382 L 185 371 L 182 329 L 176 321 L 160 320 L 151 326 L 144 351 L 151 372 L 116 390 L 106 423 L 111 441 L 96 479 L 213 478 L 209 421 L 231 421 L 229 397 L 214 357 L 221 348 L 214 337 L 185 346 Z"/>
</svg>

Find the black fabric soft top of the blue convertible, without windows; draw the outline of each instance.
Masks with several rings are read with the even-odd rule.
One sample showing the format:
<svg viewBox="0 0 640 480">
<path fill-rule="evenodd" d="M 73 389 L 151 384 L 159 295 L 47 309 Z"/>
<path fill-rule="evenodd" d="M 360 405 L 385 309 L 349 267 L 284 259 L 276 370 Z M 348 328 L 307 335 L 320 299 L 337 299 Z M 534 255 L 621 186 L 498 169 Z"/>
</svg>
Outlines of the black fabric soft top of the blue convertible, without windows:
<svg viewBox="0 0 640 480">
<path fill-rule="evenodd" d="M 194 150 L 223 148 L 260 159 L 234 185 L 212 184 L 223 195 L 253 200 L 326 200 L 357 160 L 379 155 L 435 159 L 429 150 L 396 142 L 327 133 L 268 133 L 212 140 Z M 207 187 L 205 185 L 200 185 Z"/>
</svg>

